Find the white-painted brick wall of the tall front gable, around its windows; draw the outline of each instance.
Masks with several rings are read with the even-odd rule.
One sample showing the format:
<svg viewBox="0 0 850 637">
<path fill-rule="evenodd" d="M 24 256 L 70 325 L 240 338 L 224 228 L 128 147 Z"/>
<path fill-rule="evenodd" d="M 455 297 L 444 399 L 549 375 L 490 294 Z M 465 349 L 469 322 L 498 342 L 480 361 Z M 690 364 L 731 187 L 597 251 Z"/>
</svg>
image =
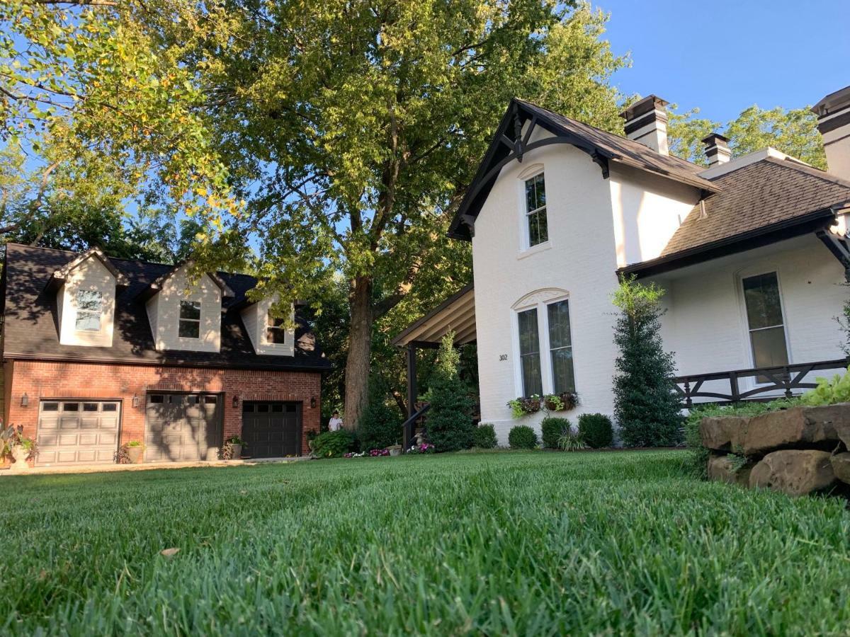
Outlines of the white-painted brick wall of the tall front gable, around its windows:
<svg viewBox="0 0 850 637">
<path fill-rule="evenodd" d="M 522 251 L 524 182 L 542 167 L 546 178 L 549 241 Z M 587 153 L 555 144 L 505 166 L 475 223 L 473 264 L 481 416 L 501 444 L 517 424 L 539 431 L 542 414 L 514 420 L 507 401 L 522 393 L 515 309 L 523 297 L 557 290 L 570 299 L 576 391 L 581 412 L 611 413 L 615 347 L 609 295 L 617 285 L 609 181 Z M 556 289 L 556 290 L 551 290 Z M 527 300 L 525 301 L 527 302 Z M 545 317 L 541 318 L 541 330 Z M 545 342 L 541 331 L 541 341 Z M 547 360 L 548 352 L 542 352 Z M 507 360 L 500 361 L 501 354 Z M 543 388 L 551 391 L 544 363 Z M 548 377 L 547 377 L 548 376 Z"/>
</svg>

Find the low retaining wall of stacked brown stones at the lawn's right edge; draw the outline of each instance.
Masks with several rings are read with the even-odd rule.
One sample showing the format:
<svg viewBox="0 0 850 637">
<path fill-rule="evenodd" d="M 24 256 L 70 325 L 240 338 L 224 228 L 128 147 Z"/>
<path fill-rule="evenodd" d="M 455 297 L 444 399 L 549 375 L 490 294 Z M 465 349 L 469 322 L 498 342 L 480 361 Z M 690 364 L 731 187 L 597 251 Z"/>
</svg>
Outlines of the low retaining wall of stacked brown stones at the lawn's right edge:
<svg viewBox="0 0 850 637">
<path fill-rule="evenodd" d="M 850 484 L 850 403 L 704 418 L 711 480 L 804 495 Z"/>
</svg>

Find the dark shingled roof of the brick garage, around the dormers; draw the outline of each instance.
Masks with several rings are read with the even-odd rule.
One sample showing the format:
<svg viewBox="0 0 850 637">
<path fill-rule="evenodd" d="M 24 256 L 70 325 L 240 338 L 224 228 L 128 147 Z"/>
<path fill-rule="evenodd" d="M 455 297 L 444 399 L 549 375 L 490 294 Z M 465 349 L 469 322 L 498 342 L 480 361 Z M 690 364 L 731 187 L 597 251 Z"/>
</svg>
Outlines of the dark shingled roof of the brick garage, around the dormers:
<svg viewBox="0 0 850 637">
<path fill-rule="evenodd" d="M 113 258 L 110 262 L 127 277 L 129 285 L 124 290 L 116 290 L 112 347 L 60 345 L 56 295 L 46 288 L 53 273 L 76 256 L 74 252 L 6 245 L 6 265 L 3 269 L 4 358 L 302 371 L 324 371 L 331 367 L 316 347 L 314 336 L 301 317 L 296 319 L 294 356 L 261 356 L 254 353 L 239 313 L 239 307 L 244 307 L 247 290 L 257 284 L 257 279 L 246 274 L 218 273 L 235 295 L 234 298 L 224 299 L 220 352 L 157 352 L 139 293 L 170 272 L 173 266 Z"/>
</svg>

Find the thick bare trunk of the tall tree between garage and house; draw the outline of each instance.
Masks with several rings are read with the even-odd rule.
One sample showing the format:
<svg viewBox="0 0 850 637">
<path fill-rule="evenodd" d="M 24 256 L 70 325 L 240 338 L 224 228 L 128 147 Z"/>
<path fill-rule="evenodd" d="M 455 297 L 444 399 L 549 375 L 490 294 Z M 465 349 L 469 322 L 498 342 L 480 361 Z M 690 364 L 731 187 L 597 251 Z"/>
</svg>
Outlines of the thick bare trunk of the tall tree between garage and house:
<svg viewBox="0 0 850 637">
<path fill-rule="evenodd" d="M 365 409 L 369 392 L 369 359 L 371 357 L 371 277 L 356 277 L 351 282 L 348 307 L 351 327 L 348 330 L 348 358 L 345 361 L 345 427 L 354 430 Z"/>
</svg>

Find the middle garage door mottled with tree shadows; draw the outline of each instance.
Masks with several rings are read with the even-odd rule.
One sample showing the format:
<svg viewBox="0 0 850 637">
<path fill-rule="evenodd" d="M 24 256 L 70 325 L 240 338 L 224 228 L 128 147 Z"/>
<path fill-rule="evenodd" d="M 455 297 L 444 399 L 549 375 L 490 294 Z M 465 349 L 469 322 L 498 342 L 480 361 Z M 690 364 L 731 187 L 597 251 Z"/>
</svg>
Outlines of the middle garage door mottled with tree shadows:
<svg viewBox="0 0 850 637">
<path fill-rule="evenodd" d="M 214 460 L 221 448 L 221 397 L 150 393 L 145 409 L 146 462 Z"/>
</svg>

